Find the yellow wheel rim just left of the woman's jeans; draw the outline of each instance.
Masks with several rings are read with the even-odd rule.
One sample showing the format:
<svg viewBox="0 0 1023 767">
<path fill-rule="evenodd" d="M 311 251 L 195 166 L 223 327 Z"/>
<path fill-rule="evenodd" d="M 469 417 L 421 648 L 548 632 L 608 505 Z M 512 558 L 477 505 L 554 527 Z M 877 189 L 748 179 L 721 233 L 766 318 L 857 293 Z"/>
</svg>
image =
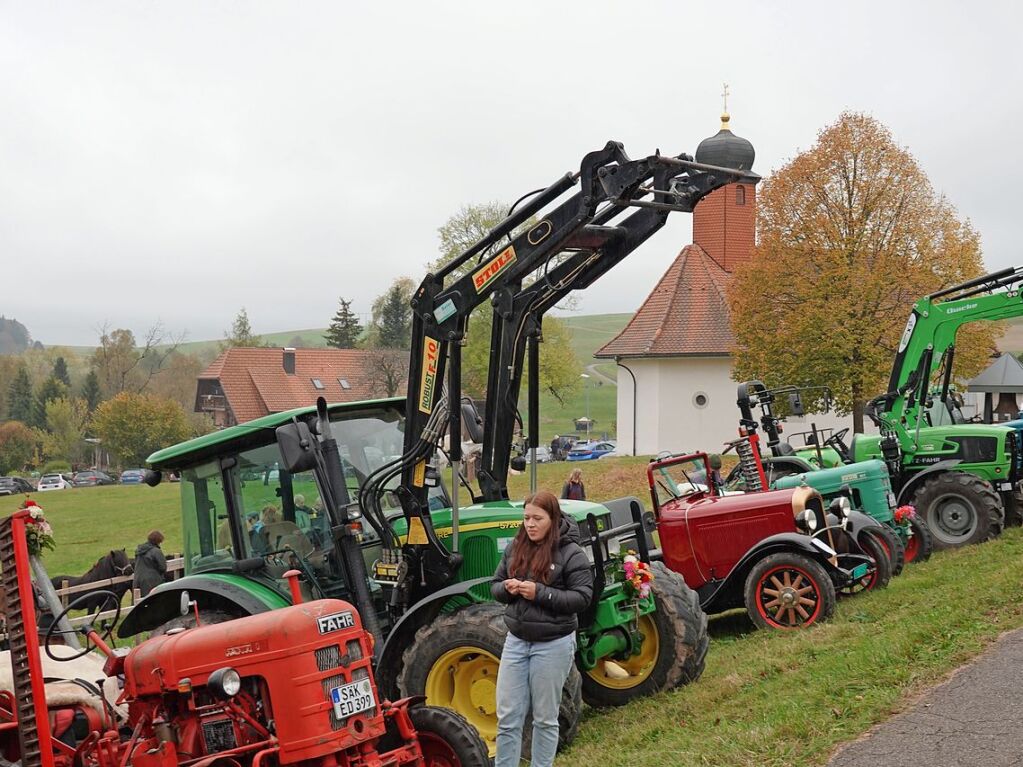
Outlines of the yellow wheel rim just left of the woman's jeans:
<svg viewBox="0 0 1023 767">
<path fill-rule="evenodd" d="M 496 753 L 499 665 L 496 656 L 466 644 L 438 658 L 427 674 L 427 704 L 465 717 L 480 731 L 490 756 Z"/>
</svg>

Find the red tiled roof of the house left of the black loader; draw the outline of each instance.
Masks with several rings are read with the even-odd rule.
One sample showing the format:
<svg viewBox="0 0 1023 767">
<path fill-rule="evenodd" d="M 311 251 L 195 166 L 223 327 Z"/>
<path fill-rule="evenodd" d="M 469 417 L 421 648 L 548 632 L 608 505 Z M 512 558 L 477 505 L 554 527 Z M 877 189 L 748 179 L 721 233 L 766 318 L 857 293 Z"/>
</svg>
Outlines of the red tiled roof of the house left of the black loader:
<svg viewBox="0 0 1023 767">
<path fill-rule="evenodd" d="M 219 379 L 235 419 L 253 418 L 327 402 L 354 402 L 380 395 L 372 381 L 373 353 L 361 349 L 296 349 L 295 374 L 284 372 L 283 350 L 232 348 L 223 352 L 199 379 Z M 317 389 L 313 378 L 319 379 Z M 340 379 L 345 379 L 345 389 Z"/>
</svg>

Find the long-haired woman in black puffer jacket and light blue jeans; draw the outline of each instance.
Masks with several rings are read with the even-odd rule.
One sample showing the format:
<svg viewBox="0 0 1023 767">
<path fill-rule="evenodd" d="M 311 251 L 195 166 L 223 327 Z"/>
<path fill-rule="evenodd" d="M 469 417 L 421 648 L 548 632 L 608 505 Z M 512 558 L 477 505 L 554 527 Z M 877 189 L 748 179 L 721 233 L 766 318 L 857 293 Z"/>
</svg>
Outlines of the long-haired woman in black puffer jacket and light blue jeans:
<svg viewBox="0 0 1023 767">
<path fill-rule="evenodd" d="M 589 604 L 593 573 L 579 529 L 558 498 L 541 490 L 526 499 L 522 527 L 490 584 L 508 628 L 497 673 L 497 757 L 518 767 L 522 728 L 533 712 L 532 767 L 550 767 L 558 750 L 562 688 L 575 661 L 576 614 Z"/>
</svg>

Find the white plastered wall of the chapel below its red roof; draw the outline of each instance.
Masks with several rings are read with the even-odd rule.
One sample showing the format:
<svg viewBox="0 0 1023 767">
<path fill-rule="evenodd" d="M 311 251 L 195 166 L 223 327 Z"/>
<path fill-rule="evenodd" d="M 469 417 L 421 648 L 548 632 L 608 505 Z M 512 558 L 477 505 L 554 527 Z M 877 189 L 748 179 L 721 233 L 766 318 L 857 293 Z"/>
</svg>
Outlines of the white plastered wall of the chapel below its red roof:
<svg viewBox="0 0 1023 767">
<path fill-rule="evenodd" d="M 727 357 L 684 357 L 623 360 L 636 378 L 633 433 L 632 377 L 618 369 L 618 450 L 636 455 L 662 451 L 706 450 L 719 452 L 725 442 L 736 439 L 739 408 L 737 387 L 731 379 Z M 706 398 L 703 406 L 698 398 Z M 844 428 L 852 417 L 833 413 L 807 414 L 786 424 L 787 433 L 818 428 Z M 783 434 L 785 437 L 785 434 Z"/>
</svg>

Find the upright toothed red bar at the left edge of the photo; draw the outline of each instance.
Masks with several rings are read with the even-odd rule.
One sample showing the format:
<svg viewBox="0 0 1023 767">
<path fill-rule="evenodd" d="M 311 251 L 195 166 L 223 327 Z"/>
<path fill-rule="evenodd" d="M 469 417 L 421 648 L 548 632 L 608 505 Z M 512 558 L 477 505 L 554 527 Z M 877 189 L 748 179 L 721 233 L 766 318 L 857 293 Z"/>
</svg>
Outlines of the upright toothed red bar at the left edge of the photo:
<svg viewBox="0 0 1023 767">
<path fill-rule="evenodd" d="M 10 643 L 10 660 L 14 676 L 13 692 L 21 742 L 21 767 L 39 767 L 42 764 L 42 751 L 39 745 L 35 695 L 32 689 L 32 674 L 29 671 L 29 652 L 25 638 L 27 631 L 36 631 L 37 629 L 35 626 L 25 625 L 21 596 L 17 588 L 14 535 L 10 517 L 0 521 L 0 569 L 2 569 L 0 584 L 2 584 L 6 600 L 7 637 Z"/>
</svg>

